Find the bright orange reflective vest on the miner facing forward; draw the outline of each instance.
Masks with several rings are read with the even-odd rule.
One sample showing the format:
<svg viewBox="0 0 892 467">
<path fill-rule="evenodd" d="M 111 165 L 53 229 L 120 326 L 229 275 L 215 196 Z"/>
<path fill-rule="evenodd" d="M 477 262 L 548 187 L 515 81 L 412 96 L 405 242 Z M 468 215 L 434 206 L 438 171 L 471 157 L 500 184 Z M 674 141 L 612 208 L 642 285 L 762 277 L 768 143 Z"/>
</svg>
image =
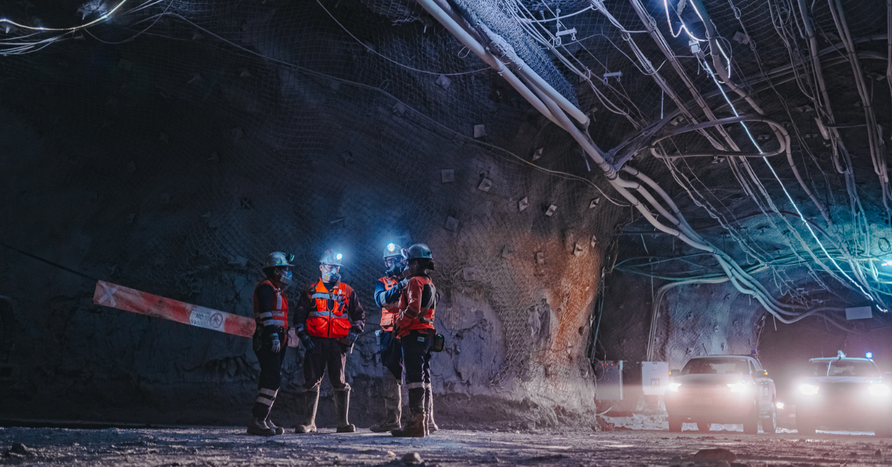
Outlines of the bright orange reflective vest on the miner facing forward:
<svg viewBox="0 0 892 467">
<path fill-rule="evenodd" d="M 347 308 L 353 289 L 339 282 L 335 288 L 328 290 L 320 279 L 308 293 L 310 296 L 310 314 L 307 316 L 307 332 L 317 338 L 346 338 L 350 333 L 350 317 Z"/>
</svg>

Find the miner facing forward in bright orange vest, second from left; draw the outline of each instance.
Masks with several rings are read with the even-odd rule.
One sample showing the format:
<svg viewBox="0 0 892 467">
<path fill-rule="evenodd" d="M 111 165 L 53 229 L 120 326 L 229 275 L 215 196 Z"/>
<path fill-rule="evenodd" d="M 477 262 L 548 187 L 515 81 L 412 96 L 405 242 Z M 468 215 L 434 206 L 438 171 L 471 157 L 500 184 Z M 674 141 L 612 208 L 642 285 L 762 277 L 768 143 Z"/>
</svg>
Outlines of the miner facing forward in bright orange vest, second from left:
<svg viewBox="0 0 892 467">
<path fill-rule="evenodd" d="M 343 254 L 327 250 L 319 260 L 319 279 L 301 292 L 294 308 L 294 328 L 306 348 L 303 359 L 303 420 L 295 433 L 316 431 L 319 385 L 328 369 L 335 390 L 337 432 L 356 431 L 347 419 L 350 385 L 344 379 L 347 350 L 366 325 L 366 313 L 353 288 L 341 282 Z"/>
</svg>

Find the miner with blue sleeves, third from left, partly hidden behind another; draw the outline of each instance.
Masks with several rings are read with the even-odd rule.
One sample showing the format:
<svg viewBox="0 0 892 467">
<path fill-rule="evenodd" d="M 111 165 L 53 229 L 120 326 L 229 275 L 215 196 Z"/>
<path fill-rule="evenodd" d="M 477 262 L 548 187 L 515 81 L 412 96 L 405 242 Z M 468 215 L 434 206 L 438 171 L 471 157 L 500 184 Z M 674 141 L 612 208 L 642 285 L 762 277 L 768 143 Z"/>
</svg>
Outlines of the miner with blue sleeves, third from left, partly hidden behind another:
<svg viewBox="0 0 892 467">
<path fill-rule="evenodd" d="M 384 277 L 375 282 L 375 301 L 381 307 L 381 329 L 376 331 L 381 350 L 383 369 L 382 396 L 384 396 L 384 420 L 372 426 L 371 430 L 383 433 L 400 428 L 402 413 L 402 348 L 400 339 L 393 334 L 393 321 L 399 312 L 402 288 L 409 279 L 402 279 L 406 260 L 402 257 L 402 247 L 388 244 L 384 247 Z"/>
</svg>

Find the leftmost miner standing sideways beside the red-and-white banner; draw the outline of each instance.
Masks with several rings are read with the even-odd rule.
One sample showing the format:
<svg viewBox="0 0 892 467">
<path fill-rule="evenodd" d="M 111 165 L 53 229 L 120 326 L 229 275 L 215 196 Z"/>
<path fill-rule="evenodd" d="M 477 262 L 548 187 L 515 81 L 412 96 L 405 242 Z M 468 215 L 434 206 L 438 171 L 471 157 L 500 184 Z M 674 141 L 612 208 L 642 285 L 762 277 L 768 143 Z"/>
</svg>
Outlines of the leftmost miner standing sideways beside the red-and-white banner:
<svg viewBox="0 0 892 467">
<path fill-rule="evenodd" d="M 269 420 L 282 382 L 282 361 L 288 347 L 288 299 L 284 290 L 291 283 L 293 265 L 282 252 L 269 254 L 263 263 L 266 278 L 254 288 L 253 349 L 260 363 L 260 388 L 248 422 L 248 434 L 281 435 L 285 429 Z"/>
</svg>

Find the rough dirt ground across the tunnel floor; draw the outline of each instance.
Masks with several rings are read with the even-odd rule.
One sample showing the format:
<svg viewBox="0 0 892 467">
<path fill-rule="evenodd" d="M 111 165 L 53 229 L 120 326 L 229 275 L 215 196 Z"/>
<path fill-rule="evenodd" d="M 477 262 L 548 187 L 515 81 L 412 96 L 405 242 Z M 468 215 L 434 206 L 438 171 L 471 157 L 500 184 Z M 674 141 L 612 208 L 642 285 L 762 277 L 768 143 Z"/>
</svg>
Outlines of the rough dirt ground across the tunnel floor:
<svg viewBox="0 0 892 467">
<path fill-rule="evenodd" d="M 434 465 L 805 466 L 892 463 L 892 441 L 868 433 L 796 432 L 746 436 L 620 429 L 610 432 L 495 432 L 442 429 L 430 438 L 392 438 L 360 429 L 335 434 L 285 434 L 257 438 L 243 428 L 0 429 L 4 465 L 394 465 L 417 453 Z M 727 449 L 697 457 L 701 449 Z M 703 456 L 703 454 L 700 454 Z M 713 462 L 708 462 L 712 459 Z M 716 461 L 717 460 L 717 461 Z"/>
</svg>

